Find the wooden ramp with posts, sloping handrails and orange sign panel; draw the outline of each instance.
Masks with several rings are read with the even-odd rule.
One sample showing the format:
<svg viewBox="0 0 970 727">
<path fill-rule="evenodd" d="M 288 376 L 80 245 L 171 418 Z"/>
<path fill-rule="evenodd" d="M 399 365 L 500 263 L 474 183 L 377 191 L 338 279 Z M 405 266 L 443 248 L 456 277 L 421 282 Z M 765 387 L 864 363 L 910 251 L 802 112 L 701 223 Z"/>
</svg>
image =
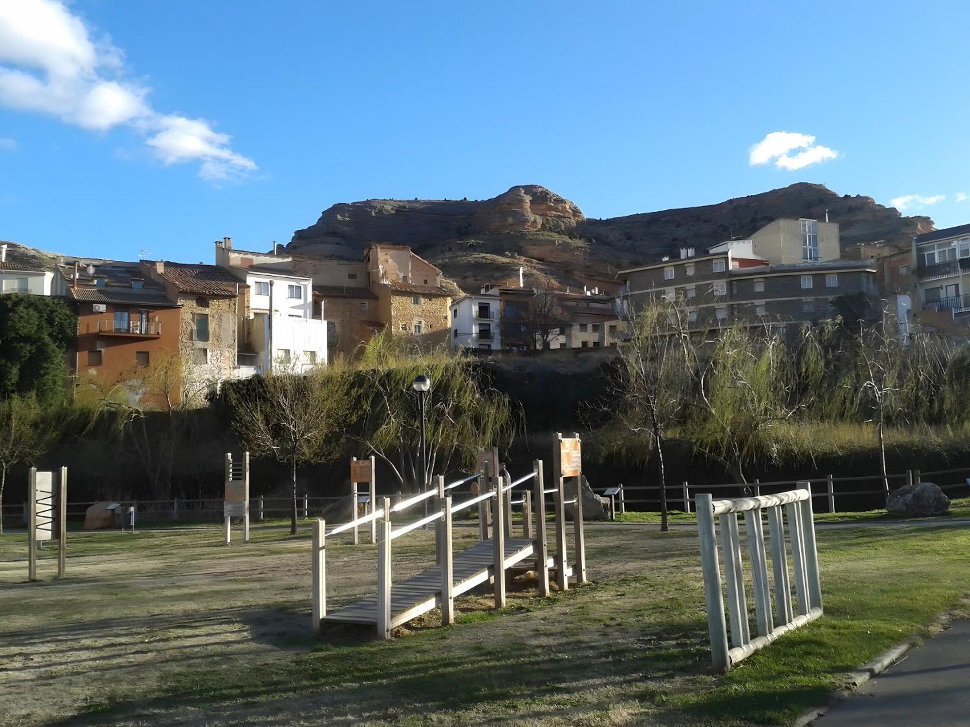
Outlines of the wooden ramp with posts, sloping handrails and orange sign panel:
<svg viewBox="0 0 970 727">
<path fill-rule="evenodd" d="M 553 452 L 553 482 L 545 487 L 542 460 L 533 461 L 531 472 L 511 480 L 498 461 L 497 450 L 479 452 L 478 472 L 445 484 L 438 475 L 436 487 L 420 492 L 394 506 L 390 499 L 381 498 L 379 508 L 332 528 L 318 520 L 313 524 L 313 632 L 319 634 L 324 621 L 373 624 L 377 634 L 391 638 L 391 630 L 440 607 L 441 623 L 455 620 L 455 598 L 477 585 L 492 584 L 496 608 L 505 605 L 507 574 L 533 570 L 538 578 L 539 595 L 549 594 L 549 578 L 555 572 L 560 590 L 566 590 L 570 577 L 576 584 L 586 581 L 586 550 L 583 538 L 583 502 L 579 487 L 581 473 L 579 436 L 559 435 Z M 575 479 L 576 497 L 566 500 L 566 480 Z M 527 483 L 531 482 L 531 487 Z M 463 502 L 453 502 L 451 490 L 469 483 L 473 496 Z M 520 486 L 524 489 L 514 490 Z M 479 491 L 480 490 L 480 491 Z M 513 497 L 521 495 L 518 499 Z M 549 553 L 546 542 L 546 500 L 552 499 L 555 530 L 555 553 Z M 434 512 L 413 522 L 394 527 L 392 518 L 408 508 L 435 498 Z M 573 505 L 575 528 L 575 560 L 569 562 L 566 553 L 566 506 Z M 478 542 L 461 553 L 454 552 L 454 516 L 470 507 L 478 506 Z M 522 507 L 522 536 L 512 535 L 512 506 Z M 356 514 L 356 510 L 353 512 Z M 326 543 L 348 530 L 355 531 L 372 523 L 377 535 L 377 589 L 374 596 L 327 612 Z M 407 533 L 432 523 L 436 524 L 436 565 L 394 584 L 391 579 L 392 544 Z M 533 527 L 534 523 L 534 527 Z M 354 540 L 356 543 L 356 539 Z"/>
</svg>

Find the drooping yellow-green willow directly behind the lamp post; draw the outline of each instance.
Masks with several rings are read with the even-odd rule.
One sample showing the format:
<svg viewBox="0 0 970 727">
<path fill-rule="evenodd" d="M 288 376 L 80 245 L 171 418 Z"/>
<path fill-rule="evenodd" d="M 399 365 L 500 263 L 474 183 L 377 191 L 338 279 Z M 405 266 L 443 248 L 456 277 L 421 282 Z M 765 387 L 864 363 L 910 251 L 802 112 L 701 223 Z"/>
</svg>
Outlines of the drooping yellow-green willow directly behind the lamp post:
<svg viewBox="0 0 970 727">
<path fill-rule="evenodd" d="M 511 399 L 467 354 L 421 350 L 385 333 L 372 339 L 353 373 L 353 408 L 362 415 L 350 434 L 389 466 L 404 490 L 427 489 L 432 473 L 468 467 L 478 447 L 512 440 L 517 416 Z M 421 421 L 412 388 L 422 374 L 432 382 L 425 412 L 427 482 L 421 482 Z"/>
</svg>

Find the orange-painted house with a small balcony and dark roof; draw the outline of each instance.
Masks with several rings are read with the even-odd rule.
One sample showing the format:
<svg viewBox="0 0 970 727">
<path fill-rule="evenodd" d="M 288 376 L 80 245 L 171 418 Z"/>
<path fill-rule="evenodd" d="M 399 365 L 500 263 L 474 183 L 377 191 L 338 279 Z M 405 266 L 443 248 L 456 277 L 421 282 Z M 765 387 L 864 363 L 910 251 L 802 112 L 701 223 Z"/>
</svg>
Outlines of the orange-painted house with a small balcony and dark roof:
<svg viewBox="0 0 970 727">
<path fill-rule="evenodd" d="M 78 313 L 71 358 L 79 385 L 116 385 L 137 405 L 164 408 L 181 400 L 176 377 L 154 380 L 178 356 L 178 302 L 139 263 L 69 260 L 58 267 L 54 290 Z"/>
</svg>

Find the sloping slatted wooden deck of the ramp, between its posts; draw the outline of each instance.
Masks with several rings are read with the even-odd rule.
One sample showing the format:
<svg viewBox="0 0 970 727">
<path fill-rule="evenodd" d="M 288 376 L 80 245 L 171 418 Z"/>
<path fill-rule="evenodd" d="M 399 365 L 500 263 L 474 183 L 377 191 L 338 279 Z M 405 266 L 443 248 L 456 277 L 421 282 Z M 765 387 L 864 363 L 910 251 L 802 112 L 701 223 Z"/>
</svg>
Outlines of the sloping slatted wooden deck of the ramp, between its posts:
<svg viewBox="0 0 970 727">
<path fill-rule="evenodd" d="M 535 553 L 532 538 L 506 538 L 504 567 L 511 568 Z M 534 558 L 533 558 L 534 560 Z M 458 596 L 476 585 L 488 583 L 495 566 L 494 544 L 484 540 L 469 550 L 455 553 L 452 566 L 454 595 Z M 441 605 L 441 568 L 432 566 L 399 584 L 391 585 L 391 628 L 426 614 Z M 346 606 L 324 616 L 328 621 L 377 623 L 377 597 Z"/>
</svg>

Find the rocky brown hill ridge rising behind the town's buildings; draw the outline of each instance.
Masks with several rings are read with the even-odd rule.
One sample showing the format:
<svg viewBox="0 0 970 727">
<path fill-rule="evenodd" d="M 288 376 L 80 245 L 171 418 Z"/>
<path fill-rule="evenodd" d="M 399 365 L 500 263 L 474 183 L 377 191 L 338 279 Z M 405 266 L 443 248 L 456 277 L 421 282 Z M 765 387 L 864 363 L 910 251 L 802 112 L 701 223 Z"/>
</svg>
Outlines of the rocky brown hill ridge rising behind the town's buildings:
<svg viewBox="0 0 970 727">
<path fill-rule="evenodd" d="M 870 197 L 839 196 L 821 184 L 797 183 L 716 205 L 587 219 L 577 205 L 545 187 L 515 186 L 490 200 L 367 200 L 324 210 L 298 230 L 288 249 L 359 259 L 371 242 L 410 245 L 466 291 L 518 276 L 528 285 L 606 287 L 618 269 L 747 237 L 778 217 L 838 222 L 844 249 L 883 240 L 906 247 L 933 228 L 929 217 L 904 217 Z"/>
</svg>

